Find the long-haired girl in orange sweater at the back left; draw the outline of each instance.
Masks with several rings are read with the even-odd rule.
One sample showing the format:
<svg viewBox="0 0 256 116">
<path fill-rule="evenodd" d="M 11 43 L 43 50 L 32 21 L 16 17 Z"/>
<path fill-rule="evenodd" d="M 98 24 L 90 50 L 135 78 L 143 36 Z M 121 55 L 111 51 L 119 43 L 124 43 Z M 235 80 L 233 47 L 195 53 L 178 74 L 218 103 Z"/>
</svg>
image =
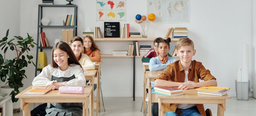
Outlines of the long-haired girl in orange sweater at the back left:
<svg viewBox="0 0 256 116">
<path fill-rule="evenodd" d="M 98 46 L 95 44 L 93 38 L 89 35 L 86 35 L 84 37 L 82 53 L 89 56 L 92 62 L 100 62 L 100 50 Z"/>
</svg>

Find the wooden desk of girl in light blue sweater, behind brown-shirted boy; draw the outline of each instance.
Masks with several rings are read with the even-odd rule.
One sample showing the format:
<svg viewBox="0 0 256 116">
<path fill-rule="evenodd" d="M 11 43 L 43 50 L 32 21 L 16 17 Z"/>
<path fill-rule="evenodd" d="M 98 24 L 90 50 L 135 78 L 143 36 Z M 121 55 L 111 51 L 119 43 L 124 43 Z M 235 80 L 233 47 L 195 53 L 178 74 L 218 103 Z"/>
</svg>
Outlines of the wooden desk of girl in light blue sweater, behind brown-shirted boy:
<svg viewBox="0 0 256 116">
<path fill-rule="evenodd" d="M 157 72 L 159 73 L 159 72 Z M 155 77 L 158 75 L 153 75 L 150 71 L 146 71 L 146 78 L 148 79 L 148 115 L 151 116 L 151 103 L 157 103 L 158 99 L 156 98 L 156 94 L 151 94 L 151 83 L 155 82 Z"/>
</svg>

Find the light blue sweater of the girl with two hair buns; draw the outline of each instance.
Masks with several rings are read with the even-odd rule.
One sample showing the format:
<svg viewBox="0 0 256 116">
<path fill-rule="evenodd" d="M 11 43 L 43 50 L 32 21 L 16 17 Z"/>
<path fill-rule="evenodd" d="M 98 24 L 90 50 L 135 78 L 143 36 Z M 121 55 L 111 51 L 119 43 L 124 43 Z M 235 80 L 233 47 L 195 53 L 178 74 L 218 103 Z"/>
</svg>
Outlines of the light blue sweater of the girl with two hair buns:
<svg viewBox="0 0 256 116">
<path fill-rule="evenodd" d="M 177 59 L 173 58 L 173 57 L 169 57 L 166 64 L 162 64 L 159 56 L 151 58 L 149 61 L 149 70 L 150 71 L 159 71 L 162 69 L 166 69 L 168 64 L 171 64 L 173 62 L 175 62 Z"/>
</svg>

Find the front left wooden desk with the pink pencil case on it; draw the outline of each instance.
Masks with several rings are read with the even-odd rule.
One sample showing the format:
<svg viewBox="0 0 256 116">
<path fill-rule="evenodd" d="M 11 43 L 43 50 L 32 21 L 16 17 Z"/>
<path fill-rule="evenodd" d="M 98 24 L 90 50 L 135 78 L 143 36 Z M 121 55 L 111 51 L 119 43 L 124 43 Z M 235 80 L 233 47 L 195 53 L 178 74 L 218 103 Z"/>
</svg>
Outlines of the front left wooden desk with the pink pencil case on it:
<svg viewBox="0 0 256 116">
<path fill-rule="evenodd" d="M 59 93 L 59 90 L 51 90 L 46 94 L 23 94 L 31 89 L 32 86 L 26 88 L 16 98 L 21 98 L 21 109 L 23 110 L 23 116 L 30 116 L 30 103 L 82 103 L 83 102 L 83 116 L 88 116 L 88 105 L 92 107 L 92 103 L 89 104 L 89 97 L 91 95 L 93 86 L 86 86 L 84 88 L 84 94 L 67 94 Z M 44 87 L 42 87 L 44 88 Z M 93 110 L 90 110 L 90 115 L 93 116 Z"/>
</svg>

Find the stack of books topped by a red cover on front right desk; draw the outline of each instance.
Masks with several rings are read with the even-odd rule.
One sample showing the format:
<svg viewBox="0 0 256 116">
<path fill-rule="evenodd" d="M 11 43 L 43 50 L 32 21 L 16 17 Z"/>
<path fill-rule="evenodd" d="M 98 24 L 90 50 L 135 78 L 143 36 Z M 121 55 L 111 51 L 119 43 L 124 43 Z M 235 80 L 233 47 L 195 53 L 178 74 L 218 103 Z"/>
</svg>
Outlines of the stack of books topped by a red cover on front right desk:
<svg viewBox="0 0 256 116">
<path fill-rule="evenodd" d="M 166 96 L 175 96 L 175 95 L 182 95 L 184 91 L 177 87 L 154 87 L 154 91 L 152 93 L 166 95 Z"/>
</svg>

